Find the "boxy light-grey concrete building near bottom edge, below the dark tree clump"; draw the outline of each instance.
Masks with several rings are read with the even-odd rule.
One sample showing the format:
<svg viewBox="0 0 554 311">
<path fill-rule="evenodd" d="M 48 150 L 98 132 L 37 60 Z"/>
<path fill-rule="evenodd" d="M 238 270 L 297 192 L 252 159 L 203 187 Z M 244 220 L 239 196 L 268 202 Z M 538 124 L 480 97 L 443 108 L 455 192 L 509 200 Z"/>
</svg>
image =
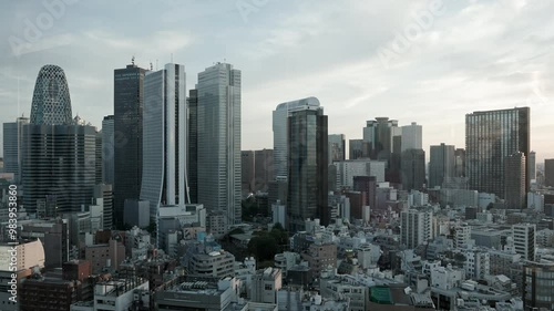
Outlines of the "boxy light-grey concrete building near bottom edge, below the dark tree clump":
<svg viewBox="0 0 554 311">
<path fill-rule="evenodd" d="M 266 268 L 256 271 L 252 280 L 253 302 L 277 303 L 277 291 L 283 287 L 283 272 L 280 269 Z"/>
</svg>

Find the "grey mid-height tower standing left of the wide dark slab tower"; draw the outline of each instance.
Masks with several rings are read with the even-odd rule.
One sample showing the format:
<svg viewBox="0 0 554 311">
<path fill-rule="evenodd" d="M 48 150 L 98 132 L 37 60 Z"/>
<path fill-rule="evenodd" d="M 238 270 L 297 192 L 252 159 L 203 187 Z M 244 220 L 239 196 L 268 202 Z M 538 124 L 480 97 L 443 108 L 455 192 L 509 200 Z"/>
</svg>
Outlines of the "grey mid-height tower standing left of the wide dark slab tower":
<svg viewBox="0 0 554 311">
<path fill-rule="evenodd" d="M 454 146 L 443 143 L 438 146 L 431 146 L 428 188 L 434 188 L 437 186 L 442 187 L 442 183 L 445 178 L 454 177 Z"/>
</svg>

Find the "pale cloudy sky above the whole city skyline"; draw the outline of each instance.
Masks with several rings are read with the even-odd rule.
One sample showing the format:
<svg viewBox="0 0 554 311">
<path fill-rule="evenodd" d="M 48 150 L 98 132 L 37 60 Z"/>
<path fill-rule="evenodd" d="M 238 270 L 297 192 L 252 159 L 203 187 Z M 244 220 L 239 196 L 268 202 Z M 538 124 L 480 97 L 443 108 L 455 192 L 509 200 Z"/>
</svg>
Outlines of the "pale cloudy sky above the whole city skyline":
<svg viewBox="0 0 554 311">
<path fill-rule="evenodd" d="M 329 134 L 361 138 L 388 116 L 421 124 L 425 149 L 464 147 L 468 113 L 529 106 L 538 163 L 554 158 L 553 15 L 550 0 L 1 1 L 0 122 L 29 116 L 44 64 L 100 129 L 133 55 L 184 64 L 187 90 L 227 62 L 243 77 L 242 149 L 273 148 L 275 107 L 316 96 Z"/>
</svg>

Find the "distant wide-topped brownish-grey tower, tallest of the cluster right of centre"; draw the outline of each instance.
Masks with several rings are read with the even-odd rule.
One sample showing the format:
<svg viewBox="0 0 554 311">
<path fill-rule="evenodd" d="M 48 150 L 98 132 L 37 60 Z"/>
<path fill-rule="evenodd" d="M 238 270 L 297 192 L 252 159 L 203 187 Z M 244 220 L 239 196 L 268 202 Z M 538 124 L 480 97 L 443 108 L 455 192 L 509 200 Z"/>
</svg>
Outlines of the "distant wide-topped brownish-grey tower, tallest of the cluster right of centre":
<svg viewBox="0 0 554 311">
<path fill-rule="evenodd" d="M 401 135 L 397 120 L 376 117 L 366 123 L 363 141 L 370 144 L 371 158 L 389 159 L 392 153 L 392 137 Z"/>
</svg>

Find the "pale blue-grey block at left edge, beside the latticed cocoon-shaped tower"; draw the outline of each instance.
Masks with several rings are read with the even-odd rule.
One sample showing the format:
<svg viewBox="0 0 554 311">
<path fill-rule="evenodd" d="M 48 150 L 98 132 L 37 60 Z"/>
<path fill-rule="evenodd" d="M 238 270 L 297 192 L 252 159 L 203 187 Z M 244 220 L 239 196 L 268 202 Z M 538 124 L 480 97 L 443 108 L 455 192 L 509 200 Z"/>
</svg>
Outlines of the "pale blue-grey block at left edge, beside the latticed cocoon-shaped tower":
<svg viewBox="0 0 554 311">
<path fill-rule="evenodd" d="M 16 183 L 19 183 L 21 174 L 21 138 L 24 124 L 29 124 L 29 117 L 21 116 L 16 122 L 3 124 L 3 172 L 13 173 Z"/>
</svg>

